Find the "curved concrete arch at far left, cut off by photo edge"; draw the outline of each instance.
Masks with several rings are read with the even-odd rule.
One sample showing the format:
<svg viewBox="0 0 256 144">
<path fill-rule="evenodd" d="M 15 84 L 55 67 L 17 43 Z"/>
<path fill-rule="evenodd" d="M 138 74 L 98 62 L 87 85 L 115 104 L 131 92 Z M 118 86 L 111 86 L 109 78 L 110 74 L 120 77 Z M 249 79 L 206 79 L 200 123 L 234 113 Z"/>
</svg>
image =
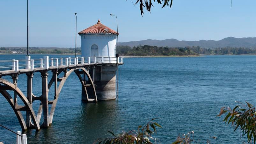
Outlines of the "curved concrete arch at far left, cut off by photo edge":
<svg viewBox="0 0 256 144">
<path fill-rule="evenodd" d="M 32 105 L 29 103 L 28 99 L 25 97 L 25 95 L 22 93 L 22 91 L 15 84 L 13 84 L 5 79 L 0 78 L 0 83 L 4 84 L 4 85 L 0 86 L 0 87 L 2 87 L 0 89 L 0 93 L 6 98 L 6 100 L 11 105 L 13 111 L 15 112 L 15 114 L 19 120 L 22 130 L 25 131 L 27 129 L 27 127 L 26 127 L 26 122 L 20 112 L 21 109 L 29 112 L 29 114 L 33 120 L 35 129 L 40 130 L 39 122 L 36 120 L 36 115 L 33 111 Z M 14 91 L 19 96 L 19 98 L 22 100 L 22 102 L 24 103 L 25 106 L 23 106 L 23 107 L 21 106 L 20 108 L 17 108 L 17 105 L 14 103 L 14 100 L 12 99 L 11 95 L 6 90 Z"/>
</svg>

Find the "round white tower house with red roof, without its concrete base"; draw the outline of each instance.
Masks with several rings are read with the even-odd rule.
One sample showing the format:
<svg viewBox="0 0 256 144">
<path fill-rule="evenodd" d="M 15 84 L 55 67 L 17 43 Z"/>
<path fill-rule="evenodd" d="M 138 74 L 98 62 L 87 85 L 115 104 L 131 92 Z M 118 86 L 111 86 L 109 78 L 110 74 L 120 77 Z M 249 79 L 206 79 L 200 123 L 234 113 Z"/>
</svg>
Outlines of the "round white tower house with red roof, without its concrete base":
<svg viewBox="0 0 256 144">
<path fill-rule="evenodd" d="M 116 37 L 117 32 L 103 25 L 98 20 L 97 24 L 78 32 L 81 36 L 81 51 L 84 57 L 104 57 L 105 63 L 116 63 Z"/>
</svg>

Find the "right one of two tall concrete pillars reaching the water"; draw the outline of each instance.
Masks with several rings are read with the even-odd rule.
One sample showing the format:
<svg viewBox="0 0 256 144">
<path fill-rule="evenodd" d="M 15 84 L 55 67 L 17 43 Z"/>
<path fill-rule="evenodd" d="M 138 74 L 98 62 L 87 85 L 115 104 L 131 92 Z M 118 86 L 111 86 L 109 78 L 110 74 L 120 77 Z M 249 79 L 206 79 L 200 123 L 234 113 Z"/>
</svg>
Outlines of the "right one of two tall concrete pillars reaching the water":
<svg viewBox="0 0 256 144">
<path fill-rule="evenodd" d="M 41 73 L 42 77 L 42 105 L 43 105 L 43 117 L 44 117 L 44 123 L 42 124 L 43 127 L 49 126 L 48 121 L 48 73 L 47 71 L 44 71 Z"/>
</svg>

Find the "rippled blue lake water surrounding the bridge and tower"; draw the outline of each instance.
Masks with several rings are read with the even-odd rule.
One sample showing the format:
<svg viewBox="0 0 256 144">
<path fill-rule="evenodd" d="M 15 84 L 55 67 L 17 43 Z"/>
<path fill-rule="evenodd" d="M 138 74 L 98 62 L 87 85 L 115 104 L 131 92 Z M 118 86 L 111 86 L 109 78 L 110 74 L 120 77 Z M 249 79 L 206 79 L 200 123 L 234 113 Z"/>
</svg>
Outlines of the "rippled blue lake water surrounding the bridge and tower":
<svg viewBox="0 0 256 144">
<path fill-rule="evenodd" d="M 31 55 L 32 59 L 43 55 Z M 50 55 L 50 57 L 69 57 Z M 4 59 L 24 59 L 24 55 L 0 55 Z M 137 129 L 148 120 L 157 128 L 161 143 L 172 143 L 178 135 L 194 131 L 196 142 L 244 143 L 242 132 L 233 132 L 224 117 L 216 117 L 223 106 L 234 107 L 235 101 L 256 104 L 255 55 L 206 55 L 201 57 L 124 58 L 119 67 L 118 101 L 81 102 L 81 84 L 75 74 L 64 84 L 55 109 L 53 124 L 39 132 L 26 132 L 28 143 L 92 143 L 110 136 L 106 131 L 121 133 Z M 36 73 L 33 93 L 40 95 L 40 74 Z M 22 81 L 24 82 L 22 83 Z M 26 75 L 18 86 L 26 92 Z M 53 90 L 49 92 L 53 97 Z M 37 111 L 38 102 L 33 103 Z M 21 130 L 11 106 L 0 96 L 0 124 Z M 216 136 L 216 139 L 211 137 Z M 15 143 L 16 135 L 0 127 L 0 141 Z"/>
</svg>

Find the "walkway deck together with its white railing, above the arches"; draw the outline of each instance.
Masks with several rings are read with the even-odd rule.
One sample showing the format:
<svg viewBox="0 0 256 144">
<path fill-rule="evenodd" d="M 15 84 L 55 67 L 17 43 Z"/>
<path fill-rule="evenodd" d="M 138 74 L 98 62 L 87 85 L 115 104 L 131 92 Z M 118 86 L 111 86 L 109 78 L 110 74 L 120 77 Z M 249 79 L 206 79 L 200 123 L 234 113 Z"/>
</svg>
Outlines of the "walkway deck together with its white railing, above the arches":
<svg viewBox="0 0 256 144">
<path fill-rule="evenodd" d="M 122 65 L 123 59 L 121 57 L 117 58 L 118 61 L 114 60 L 115 57 L 88 57 L 88 61 L 85 61 L 84 57 L 76 58 L 65 58 L 65 59 L 49 59 L 48 56 L 45 56 L 44 59 L 40 59 L 40 64 L 34 65 L 34 60 L 30 60 L 30 56 L 26 56 L 26 60 L 20 60 L 26 64 L 19 65 L 18 60 L 8 60 L 0 61 L 0 64 L 4 62 L 12 62 L 12 65 L 1 66 L 0 65 L 0 76 L 11 75 L 15 73 L 27 73 L 27 72 L 37 72 L 42 70 L 53 70 L 59 68 L 74 68 L 74 67 L 84 67 L 84 66 L 93 66 L 93 65 Z M 59 61 L 60 60 L 60 61 Z M 64 61 L 63 61 L 64 60 Z M 73 61 L 72 61 L 73 60 Z M 35 60 L 36 61 L 36 60 Z M 92 61 L 92 62 L 91 62 Z M 38 66 L 38 68 L 34 68 Z M 19 67 L 22 67 L 19 68 Z M 5 69 L 4 69 L 5 68 Z M 6 68 L 11 68 L 11 70 L 6 70 Z"/>
</svg>

